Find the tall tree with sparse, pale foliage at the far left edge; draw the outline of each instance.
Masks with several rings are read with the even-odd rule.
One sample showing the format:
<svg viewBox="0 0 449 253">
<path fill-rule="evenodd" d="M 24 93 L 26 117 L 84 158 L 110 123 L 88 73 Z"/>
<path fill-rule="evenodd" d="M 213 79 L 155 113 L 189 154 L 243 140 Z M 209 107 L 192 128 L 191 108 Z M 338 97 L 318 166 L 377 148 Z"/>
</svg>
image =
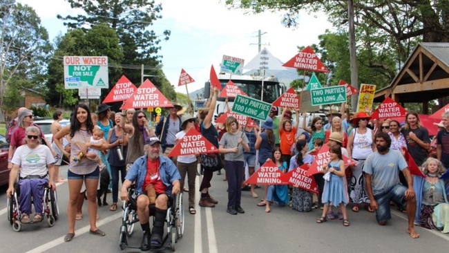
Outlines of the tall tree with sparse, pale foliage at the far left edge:
<svg viewBox="0 0 449 253">
<path fill-rule="evenodd" d="M 0 121 L 19 106 L 22 88 L 45 89 L 45 69 L 52 47 L 35 10 L 14 0 L 0 0 Z"/>
</svg>

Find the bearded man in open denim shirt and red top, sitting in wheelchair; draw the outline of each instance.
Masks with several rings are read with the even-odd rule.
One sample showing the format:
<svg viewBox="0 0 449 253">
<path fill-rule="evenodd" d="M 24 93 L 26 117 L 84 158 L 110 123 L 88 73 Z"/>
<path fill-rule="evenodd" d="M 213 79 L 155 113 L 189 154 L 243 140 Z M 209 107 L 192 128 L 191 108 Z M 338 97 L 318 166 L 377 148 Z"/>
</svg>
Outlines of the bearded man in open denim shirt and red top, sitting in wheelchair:
<svg viewBox="0 0 449 253">
<path fill-rule="evenodd" d="M 162 247 L 164 222 L 169 196 L 181 189 L 180 173 L 175 164 L 160 155 L 160 140 L 152 136 L 145 140 L 146 155 L 137 158 L 126 174 L 120 191 L 120 199 L 128 201 L 128 189 L 135 182 L 137 216 L 144 231 L 140 250 Z M 155 205 L 153 231 L 150 233 L 149 205 Z"/>
</svg>

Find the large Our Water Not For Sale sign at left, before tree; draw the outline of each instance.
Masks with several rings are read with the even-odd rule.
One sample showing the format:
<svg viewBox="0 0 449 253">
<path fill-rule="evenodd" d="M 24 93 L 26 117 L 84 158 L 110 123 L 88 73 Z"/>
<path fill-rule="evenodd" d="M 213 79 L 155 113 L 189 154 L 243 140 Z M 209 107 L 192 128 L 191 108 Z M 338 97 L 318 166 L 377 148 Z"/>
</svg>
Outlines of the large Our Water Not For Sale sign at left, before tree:
<svg viewBox="0 0 449 253">
<path fill-rule="evenodd" d="M 64 88 L 108 87 L 108 57 L 64 56 Z"/>
</svg>

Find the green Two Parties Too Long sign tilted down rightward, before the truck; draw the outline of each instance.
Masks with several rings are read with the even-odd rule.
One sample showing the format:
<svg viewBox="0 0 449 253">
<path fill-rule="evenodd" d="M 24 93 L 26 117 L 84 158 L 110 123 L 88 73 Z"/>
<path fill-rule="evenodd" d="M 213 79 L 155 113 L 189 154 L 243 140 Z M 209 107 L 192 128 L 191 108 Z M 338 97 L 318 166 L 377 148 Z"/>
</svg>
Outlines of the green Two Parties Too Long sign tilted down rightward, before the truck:
<svg viewBox="0 0 449 253">
<path fill-rule="evenodd" d="M 234 113 L 247 115 L 249 118 L 258 120 L 266 120 L 270 109 L 271 104 L 242 95 L 236 96 L 232 106 Z"/>
</svg>

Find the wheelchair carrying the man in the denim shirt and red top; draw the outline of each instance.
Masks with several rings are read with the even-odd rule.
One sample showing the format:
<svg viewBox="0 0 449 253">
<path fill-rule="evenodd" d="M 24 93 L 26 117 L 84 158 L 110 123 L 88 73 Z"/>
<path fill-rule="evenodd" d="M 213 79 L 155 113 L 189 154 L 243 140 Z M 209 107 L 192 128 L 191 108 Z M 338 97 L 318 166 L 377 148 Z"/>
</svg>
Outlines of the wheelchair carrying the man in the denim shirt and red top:
<svg viewBox="0 0 449 253">
<path fill-rule="evenodd" d="M 137 203 L 135 201 L 134 189 L 128 189 L 129 201 L 123 203 L 122 225 L 120 226 L 119 247 L 124 250 L 126 247 L 139 249 L 140 245 L 128 245 L 128 239 L 131 238 L 134 231 L 135 223 L 139 222 L 137 217 Z M 150 216 L 155 212 L 155 205 L 150 205 Z M 153 217 L 154 219 L 154 217 Z M 151 219 L 150 219 L 151 221 Z M 152 226 L 150 226 L 152 227 Z M 176 242 L 182 238 L 184 234 L 184 206 L 182 203 L 182 192 L 169 199 L 167 214 L 165 218 L 166 232 L 162 239 L 162 247 L 151 249 L 152 251 L 172 250 L 176 249 Z M 139 238 L 141 239 L 141 238 Z"/>
</svg>

